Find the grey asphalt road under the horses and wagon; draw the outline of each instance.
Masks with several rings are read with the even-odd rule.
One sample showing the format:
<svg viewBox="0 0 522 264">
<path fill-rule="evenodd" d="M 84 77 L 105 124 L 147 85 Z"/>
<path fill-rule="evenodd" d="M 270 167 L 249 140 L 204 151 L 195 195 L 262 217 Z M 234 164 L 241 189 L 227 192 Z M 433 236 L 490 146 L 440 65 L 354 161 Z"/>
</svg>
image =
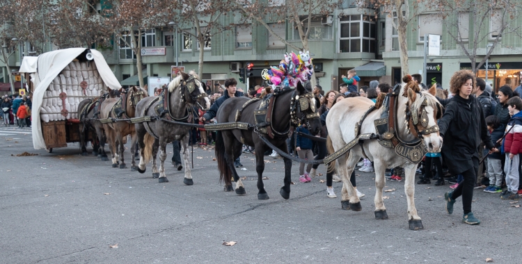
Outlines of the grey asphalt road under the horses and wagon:
<svg viewBox="0 0 522 264">
<path fill-rule="evenodd" d="M 366 197 L 363 211 L 354 212 L 341 210 L 341 183 L 334 183 L 337 199 L 326 197 L 317 177 L 299 183 L 297 163 L 290 199 L 280 197 L 280 158 L 265 157 L 270 199 L 260 201 L 251 154 L 242 156 L 247 195 L 239 197 L 223 192 L 212 149 L 194 149 L 191 186 L 170 163 L 170 182 L 158 183 L 150 165 L 145 174 L 112 168 L 79 156 L 77 144 L 52 154 L 35 150 L 29 129 L 2 127 L 0 149 L 0 263 L 520 263 L 522 257 L 522 208 L 482 189 L 473 198 L 482 224 L 469 226 L 461 223 L 461 199 L 453 215 L 445 212 L 449 185 L 416 185 L 425 229 L 411 231 L 404 182 L 386 183 L 385 190 L 397 189 L 384 200 L 390 219 L 374 219 L 370 173 L 358 173 Z M 24 151 L 38 156 L 16 156 Z M 319 173 L 326 175 L 324 166 Z M 222 245 L 230 241 L 237 244 Z"/>
</svg>

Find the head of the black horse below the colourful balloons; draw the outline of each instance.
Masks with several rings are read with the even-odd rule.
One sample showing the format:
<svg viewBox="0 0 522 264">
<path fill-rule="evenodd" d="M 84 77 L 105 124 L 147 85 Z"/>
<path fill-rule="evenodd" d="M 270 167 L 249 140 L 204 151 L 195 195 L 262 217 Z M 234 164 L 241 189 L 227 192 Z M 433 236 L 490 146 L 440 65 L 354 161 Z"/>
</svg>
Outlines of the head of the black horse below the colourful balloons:
<svg viewBox="0 0 522 264">
<path fill-rule="evenodd" d="M 317 103 L 311 89 L 306 89 L 300 81 L 296 85 L 296 95 L 292 98 L 292 115 L 301 119 L 301 123 L 308 126 L 312 135 L 317 135 L 321 130 L 319 112 L 315 106 Z"/>
</svg>

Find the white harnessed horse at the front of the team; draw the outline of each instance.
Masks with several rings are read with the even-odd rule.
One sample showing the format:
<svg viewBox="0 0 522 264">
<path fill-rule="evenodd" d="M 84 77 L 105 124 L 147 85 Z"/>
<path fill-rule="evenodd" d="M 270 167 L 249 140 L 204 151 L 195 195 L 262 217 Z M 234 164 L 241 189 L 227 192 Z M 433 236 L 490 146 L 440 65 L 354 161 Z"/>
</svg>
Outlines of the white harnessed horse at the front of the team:
<svg viewBox="0 0 522 264">
<path fill-rule="evenodd" d="M 359 133 L 361 135 L 364 133 L 377 134 L 377 127 L 383 124 L 381 121 L 384 119 L 381 118 L 381 115 L 383 111 L 386 111 L 385 108 L 369 111 L 368 109 L 373 106 L 370 99 L 351 97 L 335 104 L 326 117 L 326 128 L 329 131 L 326 145 L 330 154 L 351 143 L 354 146 L 347 154 L 340 156 L 335 163 L 332 162 L 329 165 L 329 171 L 332 171 L 335 166 L 342 178 L 341 205 L 343 209 L 362 210 L 361 202 L 349 177 L 360 158 L 367 157 L 374 162 L 375 169 L 375 186 L 377 187 L 374 197 L 375 218 L 388 219 L 382 196 L 386 168 L 403 167 L 406 175 L 404 192 L 408 204 L 409 228 L 419 230 L 424 227 L 415 207 L 415 173 L 417 164 L 422 160 L 426 151 L 436 152 L 442 147 L 443 140 L 438 133 L 437 126 L 437 119 L 442 115 L 442 106 L 434 97 L 435 87 L 429 91 L 420 92 L 418 85 L 411 81 L 411 76 L 405 76 L 403 81 L 407 82 L 404 87 L 396 85 L 394 90 L 388 94 L 390 112 L 386 120 L 390 119 L 390 124 L 395 124 L 388 126 L 391 129 L 381 134 L 379 140 L 361 142 L 356 138 Z M 392 101 L 395 104 L 394 107 L 392 107 Z M 391 119 L 395 119 L 395 122 Z M 375 120 L 377 121 L 374 122 Z M 409 148 L 409 146 L 413 146 L 410 144 L 411 142 L 416 142 L 417 147 Z M 388 143 L 390 145 L 385 147 L 384 145 Z M 398 145 L 394 149 L 395 143 Z"/>
</svg>

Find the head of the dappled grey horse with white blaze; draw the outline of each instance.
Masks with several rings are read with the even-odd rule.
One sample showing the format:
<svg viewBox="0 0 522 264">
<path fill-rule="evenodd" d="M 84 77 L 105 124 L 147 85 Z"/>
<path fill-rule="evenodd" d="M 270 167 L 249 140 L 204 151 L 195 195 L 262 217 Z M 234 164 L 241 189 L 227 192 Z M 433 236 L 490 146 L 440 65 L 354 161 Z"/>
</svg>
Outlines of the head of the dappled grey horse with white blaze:
<svg viewBox="0 0 522 264">
<path fill-rule="evenodd" d="M 182 88 L 181 92 L 184 99 L 189 104 L 196 104 L 198 108 L 203 111 L 208 110 L 210 108 L 210 100 L 208 99 L 205 90 L 203 90 L 203 85 L 198 78 L 192 74 L 186 74 L 184 72 L 181 72 L 179 78 Z"/>
</svg>

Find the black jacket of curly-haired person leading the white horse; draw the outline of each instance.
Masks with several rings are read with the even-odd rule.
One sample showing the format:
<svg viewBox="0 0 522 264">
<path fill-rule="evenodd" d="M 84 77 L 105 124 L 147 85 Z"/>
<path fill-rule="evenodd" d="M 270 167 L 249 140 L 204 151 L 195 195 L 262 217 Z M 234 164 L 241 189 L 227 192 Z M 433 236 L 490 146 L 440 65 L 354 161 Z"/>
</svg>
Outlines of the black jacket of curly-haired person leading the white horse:
<svg viewBox="0 0 522 264">
<path fill-rule="evenodd" d="M 478 160 L 477 148 L 481 141 L 487 149 L 494 147 L 487 131 L 484 113 L 474 95 L 470 95 L 468 99 L 455 95 L 446 106 L 438 126 L 444 138 L 442 154 L 453 175 L 478 165 L 474 161 Z M 472 157 L 476 159 L 473 160 Z"/>
</svg>

